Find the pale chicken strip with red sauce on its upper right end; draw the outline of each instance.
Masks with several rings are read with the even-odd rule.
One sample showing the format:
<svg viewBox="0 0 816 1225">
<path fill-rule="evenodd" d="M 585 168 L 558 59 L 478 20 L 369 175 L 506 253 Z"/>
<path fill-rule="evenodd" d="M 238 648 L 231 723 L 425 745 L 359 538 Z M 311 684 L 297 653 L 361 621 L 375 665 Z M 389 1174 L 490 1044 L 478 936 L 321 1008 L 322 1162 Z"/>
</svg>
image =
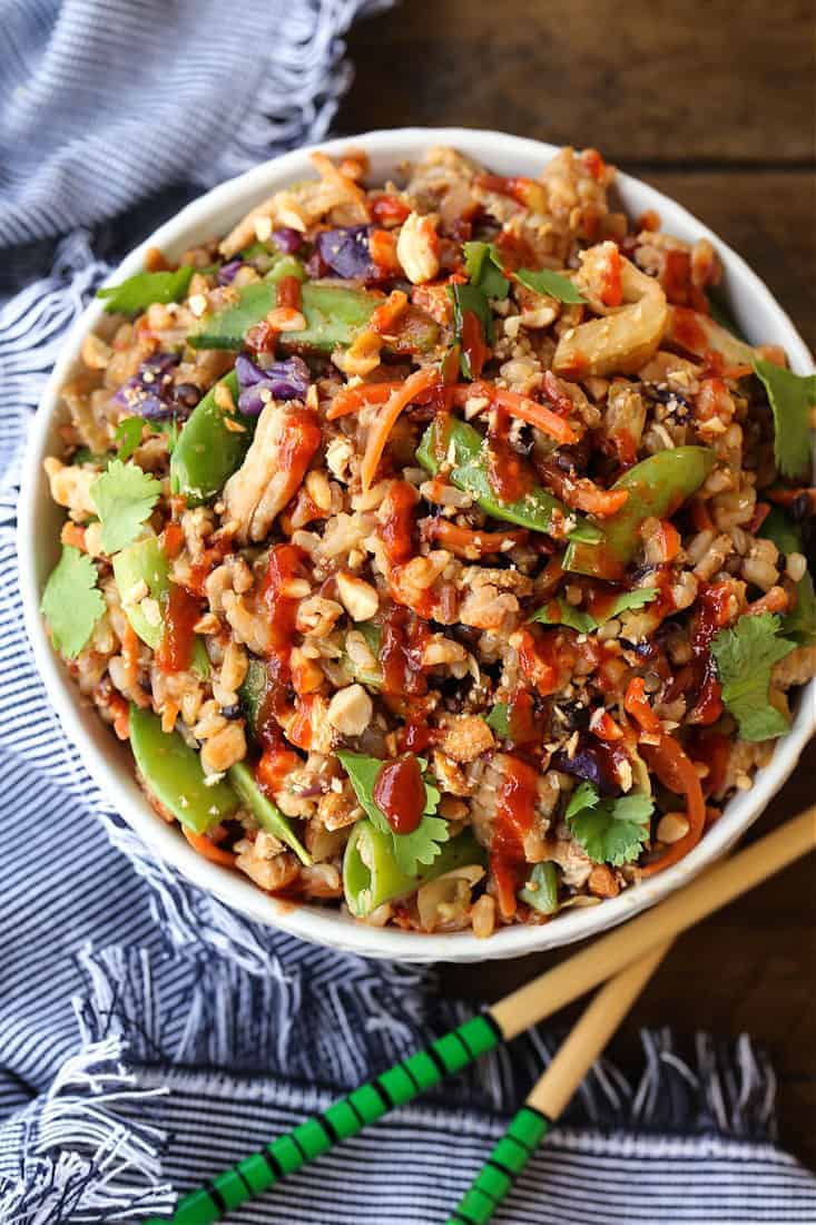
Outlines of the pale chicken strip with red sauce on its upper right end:
<svg viewBox="0 0 816 1225">
<path fill-rule="evenodd" d="M 244 463 L 224 485 L 227 512 L 238 523 L 240 544 L 265 539 L 300 488 L 320 437 L 314 413 L 274 401 L 266 405 Z"/>
</svg>

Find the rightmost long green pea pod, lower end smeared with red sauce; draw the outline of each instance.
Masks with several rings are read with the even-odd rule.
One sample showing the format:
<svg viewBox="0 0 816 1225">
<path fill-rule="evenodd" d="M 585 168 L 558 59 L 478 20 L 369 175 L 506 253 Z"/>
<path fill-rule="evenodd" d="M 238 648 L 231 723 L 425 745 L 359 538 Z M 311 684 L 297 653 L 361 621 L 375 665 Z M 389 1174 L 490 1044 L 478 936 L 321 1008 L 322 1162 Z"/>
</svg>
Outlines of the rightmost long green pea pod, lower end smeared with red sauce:
<svg viewBox="0 0 816 1225">
<path fill-rule="evenodd" d="M 621 579 L 641 546 L 644 521 L 674 514 L 697 492 L 716 463 L 717 456 L 708 447 L 674 447 L 635 464 L 613 485 L 627 490 L 629 497 L 616 514 L 604 519 L 603 539 L 595 544 L 570 543 L 564 568 L 593 578 Z"/>
</svg>

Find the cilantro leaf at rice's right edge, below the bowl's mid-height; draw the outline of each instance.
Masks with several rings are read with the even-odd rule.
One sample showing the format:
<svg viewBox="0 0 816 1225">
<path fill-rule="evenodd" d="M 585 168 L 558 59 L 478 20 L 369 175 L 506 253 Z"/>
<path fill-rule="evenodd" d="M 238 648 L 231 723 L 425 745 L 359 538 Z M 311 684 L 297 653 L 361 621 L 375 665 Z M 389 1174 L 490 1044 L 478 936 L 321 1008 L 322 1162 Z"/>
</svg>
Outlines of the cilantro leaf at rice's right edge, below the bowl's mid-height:
<svg viewBox="0 0 816 1225">
<path fill-rule="evenodd" d="M 788 730 L 788 720 L 768 701 L 773 665 L 795 647 L 778 637 L 779 630 L 779 617 L 762 612 L 740 617 L 733 630 L 720 630 L 712 639 L 723 702 L 742 740 L 769 740 Z"/>
</svg>

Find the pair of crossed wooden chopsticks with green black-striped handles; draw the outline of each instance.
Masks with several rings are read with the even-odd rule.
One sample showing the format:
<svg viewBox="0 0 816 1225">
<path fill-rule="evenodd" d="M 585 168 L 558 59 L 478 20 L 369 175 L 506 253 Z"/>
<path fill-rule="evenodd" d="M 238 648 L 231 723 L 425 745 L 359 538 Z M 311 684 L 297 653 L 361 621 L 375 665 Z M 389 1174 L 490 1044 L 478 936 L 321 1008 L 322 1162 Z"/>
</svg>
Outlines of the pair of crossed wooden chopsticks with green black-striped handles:
<svg viewBox="0 0 816 1225">
<path fill-rule="evenodd" d="M 431 1046 L 333 1102 L 325 1114 L 279 1136 L 211 1183 L 185 1196 L 172 1225 L 212 1225 L 288 1174 L 355 1136 L 368 1123 L 459 1072 L 480 1055 L 602 982 L 600 990 L 533 1088 L 447 1225 L 483 1225 L 538 1143 L 567 1105 L 597 1055 L 626 1016 L 681 931 L 754 888 L 816 846 L 816 806 L 711 869 L 665 902 L 602 936 L 551 970 L 512 991 Z M 613 976 L 614 975 L 614 976 Z M 609 981 L 606 981 L 609 980 Z M 147 1225 L 162 1225 L 158 1218 Z"/>
</svg>

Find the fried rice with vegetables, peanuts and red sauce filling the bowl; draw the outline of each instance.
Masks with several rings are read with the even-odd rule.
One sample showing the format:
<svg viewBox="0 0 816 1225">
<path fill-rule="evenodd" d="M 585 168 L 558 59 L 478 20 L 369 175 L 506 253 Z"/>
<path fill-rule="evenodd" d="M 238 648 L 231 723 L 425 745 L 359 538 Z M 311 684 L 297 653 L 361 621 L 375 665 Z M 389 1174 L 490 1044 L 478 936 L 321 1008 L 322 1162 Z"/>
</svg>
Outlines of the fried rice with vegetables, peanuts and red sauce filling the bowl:
<svg viewBox="0 0 816 1225">
<path fill-rule="evenodd" d="M 314 162 L 105 292 L 51 638 L 207 859 L 369 924 L 549 922 L 686 855 L 816 673 L 785 355 L 595 151 Z"/>
</svg>

